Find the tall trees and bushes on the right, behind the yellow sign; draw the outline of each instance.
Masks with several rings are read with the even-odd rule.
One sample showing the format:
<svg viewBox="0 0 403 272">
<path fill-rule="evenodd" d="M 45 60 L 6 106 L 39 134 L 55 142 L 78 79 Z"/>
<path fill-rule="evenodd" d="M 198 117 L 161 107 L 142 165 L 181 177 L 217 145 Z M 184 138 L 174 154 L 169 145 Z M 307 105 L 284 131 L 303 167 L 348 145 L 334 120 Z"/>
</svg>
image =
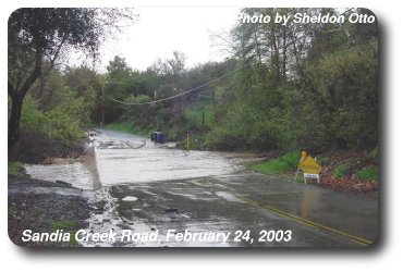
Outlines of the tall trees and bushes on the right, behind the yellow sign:
<svg viewBox="0 0 403 272">
<path fill-rule="evenodd" d="M 334 9 L 245 9 L 246 14 L 338 14 Z M 349 10 L 369 14 L 368 10 Z M 233 52 L 248 69 L 231 77 L 234 102 L 212 129 L 221 149 L 374 148 L 377 143 L 376 24 L 242 24 Z M 306 147 L 306 146 L 305 146 Z"/>
</svg>

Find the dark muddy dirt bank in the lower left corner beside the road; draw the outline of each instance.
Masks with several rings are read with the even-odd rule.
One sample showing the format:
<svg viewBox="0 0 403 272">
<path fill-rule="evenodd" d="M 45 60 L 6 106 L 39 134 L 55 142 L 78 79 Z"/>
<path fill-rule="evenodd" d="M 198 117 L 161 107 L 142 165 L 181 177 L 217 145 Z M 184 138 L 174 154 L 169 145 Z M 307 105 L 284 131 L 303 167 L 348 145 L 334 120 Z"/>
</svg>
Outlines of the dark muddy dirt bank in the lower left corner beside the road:
<svg viewBox="0 0 403 272">
<path fill-rule="evenodd" d="M 64 183 L 52 183 L 9 176 L 9 237 L 23 247 L 75 247 L 70 242 L 23 242 L 23 232 L 51 233 L 63 230 L 74 233 L 88 226 L 87 219 L 97 205 L 88 202 L 88 191 Z"/>
</svg>

